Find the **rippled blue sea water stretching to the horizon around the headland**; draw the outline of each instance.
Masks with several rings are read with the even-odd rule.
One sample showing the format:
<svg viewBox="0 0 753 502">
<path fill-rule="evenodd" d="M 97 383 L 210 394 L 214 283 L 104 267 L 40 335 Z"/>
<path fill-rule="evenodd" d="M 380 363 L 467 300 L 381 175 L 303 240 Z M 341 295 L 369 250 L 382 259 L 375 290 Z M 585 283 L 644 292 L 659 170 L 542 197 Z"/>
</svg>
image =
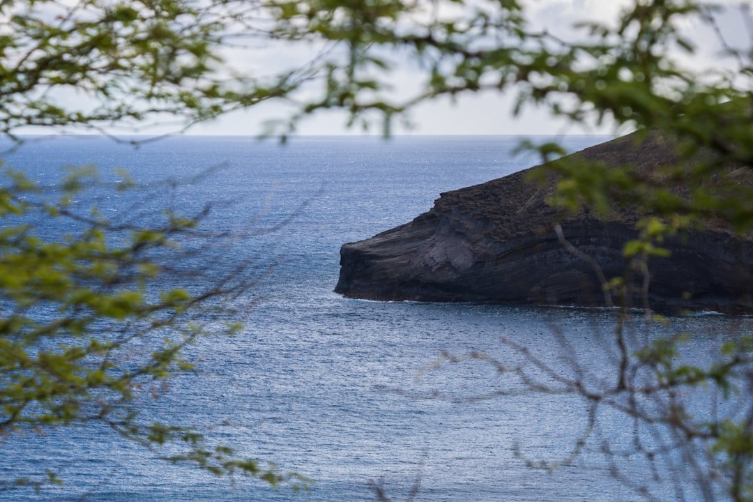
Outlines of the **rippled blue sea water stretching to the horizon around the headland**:
<svg viewBox="0 0 753 502">
<path fill-rule="evenodd" d="M 602 454 L 604 438 L 616 450 L 629 449 L 631 421 L 602 412 L 598 434 L 575 461 L 551 472 L 532 469 L 525 458 L 568 457 L 587 425 L 587 403 L 520 392 L 520 382 L 478 361 L 432 366 L 445 352 L 471 351 L 520 363 L 520 354 L 500 342 L 505 336 L 563 374 L 578 361 L 578 370 L 607 378 L 614 312 L 379 303 L 332 291 L 340 245 L 410 221 L 441 192 L 538 163 L 532 154 L 513 154 L 519 139 L 300 137 L 279 145 L 175 137 L 133 148 L 108 138 L 63 137 L 32 138 L 5 154 L 9 166 L 49 186 L 60 180 L 61 166 L 92 164 L 104 181 L 126 169 L 145 187 L 106 196 L 90 190 L 74 208 L 96 204 L 113 220 L 138 224 L 166 205 L 190 214 L 211 203 L 207 229 L 245 235 L 224 245 L 216 260 L 197 263 L 221 274 L 250 260 L 258 284 L 239 314 L 245 327 L 191 348 L 199 372 L 175 379 L 164 397 L 145 403 L 145 417 L 206 429 L 241 455 L 273 461 L 316 484 L 295 494 L 242 478 L 229 482 L 166 464 L 105 427 L 66 427 L 0 440 L 0 479 L 49 467 L 65 481 L 39 493 L 0 491 L 0 500 L 346 502 L 377 500 L 370 486 L 377 482 L 397 501 L 407 500 L 416 479 L 415 500 L 432 502 L 639 499 L 614 478 Z M 603 139 L 565 143 L 575 151 Z M 44 236 L 69 231 L 47 225 Z M 673 318 L 664 329 L 689 333 L 691 354 L 703 355 L 751 327 L 750 318 L 706 315 Z M 639 320 L 630 327 L 636 336 L 644 329 Z M 490 397 L 500 390 L 506 395 Z M 660 500 L 699 497 L 675 482 L 687 474 L 681 460 L 660 465 L 659 481 L 640 455 L 611 460 Z"/>
</svg>

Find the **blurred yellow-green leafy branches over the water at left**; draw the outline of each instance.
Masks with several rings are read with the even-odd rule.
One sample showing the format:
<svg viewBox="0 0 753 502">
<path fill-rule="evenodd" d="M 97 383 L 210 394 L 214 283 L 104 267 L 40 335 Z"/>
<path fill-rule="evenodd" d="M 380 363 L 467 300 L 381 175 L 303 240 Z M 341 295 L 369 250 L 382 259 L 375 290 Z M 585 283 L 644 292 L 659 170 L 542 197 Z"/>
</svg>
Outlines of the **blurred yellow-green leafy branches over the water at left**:
<svg viewBox="0 0 753 502">
<path fill-rule="evenodd" d="M 180 263 L 201 252 L 192 240 L 221 239 L 197 233 L 202 214 L 181 218 L 168 211 L 151 228 L 115 224 L 96 210 L 82 215 L 71 204 L 82 190 L 123 190 L 122 182 L 108 186 L 87 170 L 71 175 L 52 199 L 21 173 L 7 172 L 5 181 L 5 221 L 80 230 L 57 240 L 41 238 L 29 223 L 6 225 L 0 233 L 2 435 L 99 423 L 167 461 L 255 476 L 273 486 L 308 485 L 296 473 L 213 446 L 203 431 L 141 418 L 144 399 L 157 399 L 169 379 L 194 371 L 184 348 L 200 336 L 238 329 L 223 320 L 233 316 L 230 301 L 252 288 L 252 276 L 235 269 L 212 280 L 190 276 L 191 291 L 160 289 L 189 278 Z M 39 488 L 51 481 L 60 482 L 48 472 L 47 479 L 4 484 Z"/>
</svg>

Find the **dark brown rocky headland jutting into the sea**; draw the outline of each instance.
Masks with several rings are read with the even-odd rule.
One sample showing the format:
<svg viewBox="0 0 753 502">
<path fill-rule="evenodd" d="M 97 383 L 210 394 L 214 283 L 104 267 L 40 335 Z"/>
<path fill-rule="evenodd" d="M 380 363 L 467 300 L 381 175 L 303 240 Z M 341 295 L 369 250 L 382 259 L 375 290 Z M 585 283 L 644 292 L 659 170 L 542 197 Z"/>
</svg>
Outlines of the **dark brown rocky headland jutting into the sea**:
<svg viewBox="0 0 753 502">
<path fill-rule="evenodd" d="M 656 136 L 642 145 L 619 138 L 578 155 L 636 169 L 673 158 L 672 146 Z M 545 202 L 551 184 L 530 184 L 525 174 L 442 193 L 410 223 L 343 245 L 335 291 L 368 300 L 604 306 L 593 264 L 568 251 L 553 231 L 557 213 Z M 562 220 L 562 230 L 611 278 L 625 273 L 622 248 L 636 238 L 635 221 L 630 211 L 608 220 L 584 211 Z M 652 308 L 753 313 L 753 240 L 715 228 L 665 247 L 672 256 L 649 263 Z M 642 277 L 635 281 L 642 285 Z M 642 306 L 643 298 L 629 301 Z"/>
</svg>

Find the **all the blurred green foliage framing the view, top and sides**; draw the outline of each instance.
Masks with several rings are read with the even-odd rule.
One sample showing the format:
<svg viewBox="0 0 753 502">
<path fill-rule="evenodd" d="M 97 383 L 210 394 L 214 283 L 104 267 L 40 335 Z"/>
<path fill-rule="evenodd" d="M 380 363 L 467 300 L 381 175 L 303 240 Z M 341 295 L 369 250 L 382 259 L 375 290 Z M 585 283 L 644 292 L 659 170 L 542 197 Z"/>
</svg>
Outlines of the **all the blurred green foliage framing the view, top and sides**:
<svg viewBox="0 0 753 502">
<path fill-rule="evenodd" d="M 116 135 L 168 123 L 177 131 L 277 100 L 287 111 L 269 132 L 283 140 L 328 109 L 345 111 L 349 125 L 378 124 L 389 135 L 394 121 L 410 123 L 411 109 L 422 102 L 508 93 L 513 114 L 545 108 L 575 123 L 635 129 L 630 141 L 658 135 L 672 145 L 675 162 L 660 172 L 608 160 L 550 164 L 559 177 L 554 204 L 569 211 L 589 205 L 599 214 L 637 205 L 645 212 L 639 239 L 624 250 L 636 267 L 661 255 L 663 237 L 681 229 L 713 224 L 749 235 L 753 35 L 744 47 L 730 44 L 716 16 L 738 9 L 751 29 L 750 5 L 636 0 L 611 23 L 588 21 L 555 35 L 527 19 L 527 4 L 0 0 L 0 132 L 20 144 L 26 126 Z M 712 33 L 715 47 L 700 47 L 687 26 Z M 306 62 L 293 57 L 300 47 L 314 53 Z M 704 59 L 709 50 L 712 58 Z M 401 88 L 401 71 L 417 85 Z M 562 154 L 551 143 L 531 148 L 543 160 Z M 0 187 L 0 218 L 10 222 L 0 233 L 0 434 L 99 421 L 148 447 L 187 446 L 187 453 L 169 456 L 174 461 L 240 470 L 276 485 L 285 476 L 233 460 L 194 431 L 144 427 L 133 406 L 136 391 L 191 371 L 181 349 L 203 335 L 198 312 L 242 296 L 251 283 L 228 289 L 218 281 L 198 296 L 181 288 L 153 291 L 169 267 L 155 263 L 151 251 L 174 249 L 175 236 L 200 218 L 169 214 L 151 229 L 114 227 L 70 208 L 72 194 L 90 186 L 85 178 L 70 178 L 55 200 L 29 198 L 41 187 L 17 172 L 6 171 Z M 25 220 L 29 211 L 83 230 L 46 242 L 34 220 Z M 605 288 L 620 288 L 618 278 Z M 146 340 L 140 346 L 148 350 L 132 354 L 135 340 Z M 662 367 L 673 350 L 667 343 L 626 357 Z M 745 338 L 725 357 L 747 361 L 749 354 Z M 666 368 L 662 382 L 710 380 L 724 388 L 741 367 Z M 746 417 L 704 433 L 731 466 L 724 476 L 735 500 L 749 500 L 753 478 L 753 411 Z"/>
</svg>

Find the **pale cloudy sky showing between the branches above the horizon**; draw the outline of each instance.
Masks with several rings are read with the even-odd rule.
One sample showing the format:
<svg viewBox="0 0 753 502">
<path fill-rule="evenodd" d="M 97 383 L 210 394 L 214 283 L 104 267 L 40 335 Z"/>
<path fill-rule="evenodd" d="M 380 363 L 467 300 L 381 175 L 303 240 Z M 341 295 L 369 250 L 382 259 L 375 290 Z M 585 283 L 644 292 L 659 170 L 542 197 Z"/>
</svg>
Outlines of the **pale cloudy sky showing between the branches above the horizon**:
<svg viewBox="0 0 753 502">
<path fill-rule="evenodd" d="M 753 33 L 751 26 L 746 26 L 745 20 L 736 7 L 748 5 L 753 0 L 718 0 L 724 5 L 734 6 L 726 13 L 718 16 L 718 25 L 724 37 L 730 44 L 751 47 Z M 616 22 L 620 10 L 633 0 L 523 0 L 529 20 L 541 29 L 547 29 L 555 35 L 568 38 L 572 33 L 571 26 L 583 20 L 599 20 L 602 22 Z M 748 12 L 750 12 L 749 10 Z M 750 22 L 753 24 L 753 21 Z M 700 47 L 700 53 L 692 62 L 693 65 L 715 65 L 713 47 L 718 47 L 717 35 L 708 28 L 697 23 L 683 26 L 686 35 Z M 241 67 L 258 70 L 274 68 L 279 60 L 290 64 L 300 64 L 311 57 L 312 50 L 298 47 L 287 50 L 279 45 L 267 47 L 251 57 L 230 52 L 227 59 L 231 63 L 237 62 Z M 255 57 L 258 56 L 258 57 Z M 245 59 L 243 59 L 245 57 Z M 235 58 L 235 61 L 233 61 Z M 398 71 L 395 74 L 396 85 L 410 86 L 416 84 L 419 74 L 413 71 Z M 77 99 L 71 96 L 74 102 Z M 432 102 L 425 102 L 414 108 L 409 118 L 414 127 L 406 129 L 396 121 L 392 134 L 416 135 L 565 135 L 565 134 L 613 134 L 611 123 L 594 126 L 590 123 L 572 124 L 550 116 L 541 109 L 526 108 L 523 114 L 512 117 L 514 96 L 510 93 L 477 93 L 459 96 L 456 101 L 441 98 Z M 191 135 L 258 135 L 264 130 L 264 123 L 273 118 L 285 117 L 289 112 L 279 102 L 264 102 L 245 111 L 236 111 L 206 123 L 200 123 L 187 130 Z M 346 127 L 346 114 L 343 111 L 319 113 L 308 117 L 300 123 L 297 134 L 301 135 L 351 135 L 363 134 L 361 129 Z M 49 133 L 49 130 L 27 129 L 20 131 L 27 134 Z M 176 132 L 175 126 L 158 127 L 139 131 L 147 134 L 162 134 Z M 377 126 L 368 133 L 380 134 Z M 130 134 L 120 131 L 118 134 Z"/>
</svg>

